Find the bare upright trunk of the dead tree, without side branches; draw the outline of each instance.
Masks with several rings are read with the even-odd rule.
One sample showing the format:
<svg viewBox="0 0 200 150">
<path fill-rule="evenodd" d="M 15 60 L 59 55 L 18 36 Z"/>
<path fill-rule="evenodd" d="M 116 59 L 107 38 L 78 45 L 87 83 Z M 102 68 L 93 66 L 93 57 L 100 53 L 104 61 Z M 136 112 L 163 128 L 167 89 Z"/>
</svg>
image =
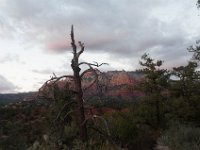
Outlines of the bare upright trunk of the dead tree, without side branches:
<svg viewBox="0 0 200 150">
<path fill-rule="evenodd" d="M 79 46 L 81 47 L 81 50 L 77 52 L 77 47 L 74 40 L 74 31 L 73 26 L 71 27 L 71 45 L 73 48 L 73 59 L 71 62 L 71 67 L 74 72 L 74 83 L 75 83 L 75 101 L 77 104 L 76 107 L 76 123 L 79 127 L 79 135 L 80 139 L 82 141 L 87 140 L 87 128 L 86 124 L 83 124 L 85 121 L 85 113 L 84 113 L 84 106 L 83 106 L 83 91 L 82 91 L 82 85 L 81 85 L 81 76 L 80 76 L 80 67 L 79 67 L 79 56 L 84 51 L 84 45 L 83 43 L 79 42 Z"/>
</svg>

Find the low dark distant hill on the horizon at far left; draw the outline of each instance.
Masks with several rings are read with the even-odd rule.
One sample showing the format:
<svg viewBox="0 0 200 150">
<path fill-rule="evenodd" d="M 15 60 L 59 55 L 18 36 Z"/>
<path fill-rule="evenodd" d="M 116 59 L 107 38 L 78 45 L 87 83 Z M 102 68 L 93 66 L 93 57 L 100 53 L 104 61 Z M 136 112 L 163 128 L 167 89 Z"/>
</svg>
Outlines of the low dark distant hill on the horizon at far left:
<svg viewBox="0 0 200 150">
<path fill-rule="evenodd" d="M 36 93 L 37 92 L 0 94 L 0 105 L 15 103 L 19 101 L 29 101 L 34 98 Z"/>
</svg>

